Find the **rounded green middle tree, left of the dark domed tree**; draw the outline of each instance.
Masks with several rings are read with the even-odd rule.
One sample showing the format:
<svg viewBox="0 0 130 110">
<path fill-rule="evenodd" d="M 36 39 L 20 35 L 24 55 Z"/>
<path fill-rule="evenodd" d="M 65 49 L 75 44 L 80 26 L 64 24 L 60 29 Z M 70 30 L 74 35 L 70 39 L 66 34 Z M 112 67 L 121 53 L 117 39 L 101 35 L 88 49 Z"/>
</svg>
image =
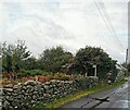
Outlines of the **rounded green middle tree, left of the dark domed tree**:
<svg viewBox="0 0 130 110">
<path fill-rule="evenodd" d="M 40 65 L 42 70 L 58 72 L 62 69 L 62 65 L 67 63 L 72 58 L 73 54 L 64 51 L 62 47 L 46 49 L 40 54 Z"/>
</svg>

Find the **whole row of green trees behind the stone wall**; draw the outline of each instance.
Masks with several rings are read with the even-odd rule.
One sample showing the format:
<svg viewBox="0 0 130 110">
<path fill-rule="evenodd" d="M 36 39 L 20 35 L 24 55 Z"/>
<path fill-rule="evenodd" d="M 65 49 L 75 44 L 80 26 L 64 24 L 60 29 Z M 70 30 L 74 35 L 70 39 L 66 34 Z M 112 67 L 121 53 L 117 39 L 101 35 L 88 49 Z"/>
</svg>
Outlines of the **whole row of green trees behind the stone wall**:
<svg viewBox="0 0 130 110">
<path fill-rule="evenodd" d="M 65 51 L 61 46 L 46 49 L 36 59 L 27 49 L 25 41 L 17 40 L 15 45 L 2 44 L 0 47 L 2 51 L 2 71 L 14 72 L 21 75 L 40 75 L 39 71 L 24 71 L 21 70 L 43 70 L 47 72 L 64 72 L 78 73 L 93 76 L 93 64 L 98 66 L 98 76 L 106 78 L 106 73 L 113 71 L 113 78 L 116 76 L 116 61 L 104 52 L 101 48 L 87 46 L 78 50 L 75 57 L 68 51 Z M 128 65 L 129 68 L 129 65 Z M 130 71 L 130 69 L 129 69 Z"/>
</svg>

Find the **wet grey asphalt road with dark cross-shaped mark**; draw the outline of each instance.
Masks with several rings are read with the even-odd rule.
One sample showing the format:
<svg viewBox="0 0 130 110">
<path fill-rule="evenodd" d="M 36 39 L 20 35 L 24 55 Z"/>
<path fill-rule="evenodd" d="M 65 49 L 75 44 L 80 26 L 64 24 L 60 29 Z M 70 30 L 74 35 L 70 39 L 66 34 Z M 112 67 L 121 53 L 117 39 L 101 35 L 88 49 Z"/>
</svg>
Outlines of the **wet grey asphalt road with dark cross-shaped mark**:
<svg viewBox="0 0 130 110">
<path fill-rule="evenodd" d="M 108 88 L 62 106 L 64 108 L 130 108 L 130 78 L 121 86 Z"/>
</svg>

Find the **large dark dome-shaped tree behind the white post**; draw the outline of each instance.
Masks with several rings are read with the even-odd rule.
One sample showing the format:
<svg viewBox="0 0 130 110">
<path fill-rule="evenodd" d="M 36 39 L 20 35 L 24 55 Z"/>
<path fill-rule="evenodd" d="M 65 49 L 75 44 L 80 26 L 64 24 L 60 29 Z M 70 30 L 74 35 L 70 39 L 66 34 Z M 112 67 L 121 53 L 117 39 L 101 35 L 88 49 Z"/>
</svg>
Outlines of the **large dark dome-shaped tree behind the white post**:
<svg viewBox="0 0 130 110">
<path fill-rule="evenodd" d="M 98 66 L 98 76 L 102 78 L 106 76 L 107 72 L 116 69 L 116 61 L 112 60 L 103 49 L 90 46 L 79 49 L 69 69 L 93 75 L 94 64 Z"/>
</svg>

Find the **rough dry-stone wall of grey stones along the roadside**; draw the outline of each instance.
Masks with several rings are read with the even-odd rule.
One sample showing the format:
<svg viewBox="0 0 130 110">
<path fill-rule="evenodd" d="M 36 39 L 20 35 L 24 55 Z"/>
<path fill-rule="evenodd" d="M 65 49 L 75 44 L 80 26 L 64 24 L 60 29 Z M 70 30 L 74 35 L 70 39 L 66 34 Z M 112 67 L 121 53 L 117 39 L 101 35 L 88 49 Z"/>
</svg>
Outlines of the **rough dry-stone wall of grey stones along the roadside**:
<svg viewBox="0 0 130 110">
<path fill-rule="evenodd" d="M 27 110 L 38 102 L 49 102 L 80 89 L 95 87 L 96 77 L 86 77 L 75 81 L 52 80 L 44 84 L 28 81 L 24 84 L 5 85 L 2 94 L 3 110 Z"/>
</svg>

